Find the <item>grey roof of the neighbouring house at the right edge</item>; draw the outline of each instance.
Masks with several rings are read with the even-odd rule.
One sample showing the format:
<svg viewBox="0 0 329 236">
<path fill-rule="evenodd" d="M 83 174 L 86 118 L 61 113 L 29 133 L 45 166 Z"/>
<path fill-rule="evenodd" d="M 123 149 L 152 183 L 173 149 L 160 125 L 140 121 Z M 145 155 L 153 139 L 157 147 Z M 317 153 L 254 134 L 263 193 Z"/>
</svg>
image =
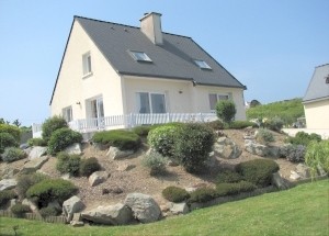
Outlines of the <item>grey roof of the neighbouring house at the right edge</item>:
<svg viewBox="0 0 329 236">
<path fill-rule="evenodd" d="M 315 68 L 303 102 L 329 99 L 329 83 L 326 83 L 327 77 L 329 77 L 329 64 Z"/>
</svg>

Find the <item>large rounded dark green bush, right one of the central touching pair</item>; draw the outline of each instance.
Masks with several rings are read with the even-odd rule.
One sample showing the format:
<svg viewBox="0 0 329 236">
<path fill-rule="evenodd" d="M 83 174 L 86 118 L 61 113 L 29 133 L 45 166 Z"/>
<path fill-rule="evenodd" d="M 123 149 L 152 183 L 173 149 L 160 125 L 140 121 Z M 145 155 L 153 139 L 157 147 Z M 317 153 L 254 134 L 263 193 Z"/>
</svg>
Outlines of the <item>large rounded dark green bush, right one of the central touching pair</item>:
<svg viewBox="0 0 329 236">
<path fill-rule="evenodd" d="M 189 172 L 197 172 L 213 149 L 215 135 L 212 128 L 200 123 L 188 123 L 178 128 L 174 144 L 175 158 Z"/>
</svg>

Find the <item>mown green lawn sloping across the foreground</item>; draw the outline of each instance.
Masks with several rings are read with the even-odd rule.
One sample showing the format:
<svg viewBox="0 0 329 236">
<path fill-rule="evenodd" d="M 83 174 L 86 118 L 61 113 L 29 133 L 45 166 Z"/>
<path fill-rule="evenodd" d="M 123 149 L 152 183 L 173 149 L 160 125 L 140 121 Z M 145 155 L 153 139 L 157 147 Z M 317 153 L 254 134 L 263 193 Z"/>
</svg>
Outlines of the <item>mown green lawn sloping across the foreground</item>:
<svg viewBox="0 0 329 236">
<path fill-rule="evenodd" d="M 0 235 L 329 235 L 329 180 L 146 225 L 84 226 L 0 218 Z"/>
</svg>

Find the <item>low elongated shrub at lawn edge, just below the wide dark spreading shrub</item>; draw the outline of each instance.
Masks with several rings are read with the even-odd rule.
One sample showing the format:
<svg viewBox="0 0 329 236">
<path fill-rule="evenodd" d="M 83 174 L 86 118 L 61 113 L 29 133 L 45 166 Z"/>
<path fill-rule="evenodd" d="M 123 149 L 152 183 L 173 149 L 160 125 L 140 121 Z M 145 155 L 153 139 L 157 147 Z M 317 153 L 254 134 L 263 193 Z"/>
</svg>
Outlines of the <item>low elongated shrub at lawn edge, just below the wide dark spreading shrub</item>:
<svg viewBox="0 0 329 236">
<path fill-rule="evenodd" d="M 256 190 L 257 187 L 247 181 L 240 181 L 240 182 L 223 182 L 216 184 L 216 191 L 218 196 L 225 196 L 225 195 L 234 195 L 239 194 L 241 192 L 251 192 Z"/>
</svg>

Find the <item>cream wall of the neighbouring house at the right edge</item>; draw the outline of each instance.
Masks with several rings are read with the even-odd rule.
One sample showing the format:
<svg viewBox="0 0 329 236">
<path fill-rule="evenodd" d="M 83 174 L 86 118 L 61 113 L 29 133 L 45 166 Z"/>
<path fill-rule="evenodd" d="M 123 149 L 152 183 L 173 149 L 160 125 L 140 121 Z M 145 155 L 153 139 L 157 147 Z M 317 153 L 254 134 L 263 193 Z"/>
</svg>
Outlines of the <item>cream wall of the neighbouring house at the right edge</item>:
<svg viewBox="0 0 329 236">
<path fill-rule="evenodd" d="M 329 128 L 329 99 L 304 103 L 307 128 Z"/>
</svg>

